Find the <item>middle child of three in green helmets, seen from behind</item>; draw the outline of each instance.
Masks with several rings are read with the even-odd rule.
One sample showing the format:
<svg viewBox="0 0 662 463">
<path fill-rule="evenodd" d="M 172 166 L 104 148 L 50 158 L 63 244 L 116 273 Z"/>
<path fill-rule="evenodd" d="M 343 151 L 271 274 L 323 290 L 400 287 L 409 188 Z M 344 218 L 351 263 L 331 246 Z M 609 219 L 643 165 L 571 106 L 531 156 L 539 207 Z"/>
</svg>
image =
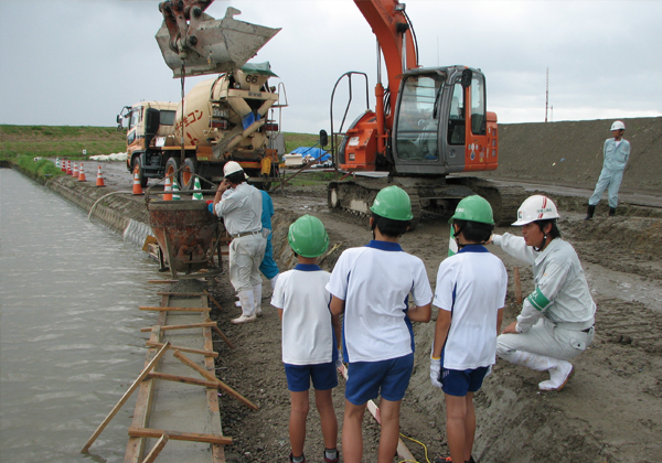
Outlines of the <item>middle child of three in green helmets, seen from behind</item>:
<svg viewBox="0 0 662 463">
<path fill-rule="evenodd" d="M 429 322 L 433 300 L 423 260 L 398 244 L 413 218 L 409 195 L 398 186 L 387 186 L 370 209 L 373 240 L 343 251 L 327 286 L 332 294 L 331 313 L 344 313 L 343 353 L 350 364 L 342 427 L 345 463 L 361 462 L 363 414 L 367 401 L 377 395 L 382 418 L 377 463 L 393 461 L 401 401 L 414 368 L 412 322 Z"/>
</svg>

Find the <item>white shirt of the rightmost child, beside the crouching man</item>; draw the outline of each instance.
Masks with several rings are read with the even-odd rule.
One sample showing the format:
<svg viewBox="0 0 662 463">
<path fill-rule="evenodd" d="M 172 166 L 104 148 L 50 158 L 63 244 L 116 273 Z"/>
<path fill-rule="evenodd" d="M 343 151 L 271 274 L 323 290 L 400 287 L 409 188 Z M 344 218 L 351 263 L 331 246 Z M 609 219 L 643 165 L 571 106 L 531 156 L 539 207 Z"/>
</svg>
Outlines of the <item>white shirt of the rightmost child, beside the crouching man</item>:
<svg viewBox="0 0 662 463">
<path fill-rule="evenodd" d="M 448 369 L 473 369 L 496 360 L 496 315 L 505 304 L 508 273 L 483 246 L 469 245 L 444 260 L 433 304 L 451 312 L 441 352 Z"/>
</svg>

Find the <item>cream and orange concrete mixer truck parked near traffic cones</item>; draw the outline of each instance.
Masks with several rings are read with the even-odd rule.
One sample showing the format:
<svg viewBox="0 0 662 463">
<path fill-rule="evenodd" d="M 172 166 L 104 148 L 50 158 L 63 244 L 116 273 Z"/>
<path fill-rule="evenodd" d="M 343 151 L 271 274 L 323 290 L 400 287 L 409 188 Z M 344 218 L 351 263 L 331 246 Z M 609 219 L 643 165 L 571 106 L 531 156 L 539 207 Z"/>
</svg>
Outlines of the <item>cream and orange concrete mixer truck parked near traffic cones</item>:
<svg viewBox="0 0 662 463">
<path fill-rule="evenodd" d="M 221 181 L 225 162 L 237 161 L 256 186 L 269 190 L 278 176 L 281 108 L 269 63 L 241 68 L 197 83 L 182 103 L 140 101 L 117 116 L 126 123 L 127 169 L 149 179 L 172 175 L 181 190 L 193 187 L 195 173 Z M 183 134 L 183 137 L 182 137 Z"/>
</svg>

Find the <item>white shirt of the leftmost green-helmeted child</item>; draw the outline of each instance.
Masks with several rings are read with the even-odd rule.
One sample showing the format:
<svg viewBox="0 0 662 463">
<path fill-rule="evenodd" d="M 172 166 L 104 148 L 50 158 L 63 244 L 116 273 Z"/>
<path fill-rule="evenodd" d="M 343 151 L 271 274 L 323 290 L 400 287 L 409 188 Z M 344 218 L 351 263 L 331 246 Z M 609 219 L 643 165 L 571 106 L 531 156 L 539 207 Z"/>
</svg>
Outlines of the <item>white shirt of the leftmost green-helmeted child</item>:
<svg viewBox="0 0 662 463">
<path fill-rule="evenodd" d="M 324 288 L 331 273 L 316 265 L 299 263 L 278 277 L 271 305 L 282 309 L 282 363 L 328 364 L 337 352 L 331 295 Z"/>
</svg>

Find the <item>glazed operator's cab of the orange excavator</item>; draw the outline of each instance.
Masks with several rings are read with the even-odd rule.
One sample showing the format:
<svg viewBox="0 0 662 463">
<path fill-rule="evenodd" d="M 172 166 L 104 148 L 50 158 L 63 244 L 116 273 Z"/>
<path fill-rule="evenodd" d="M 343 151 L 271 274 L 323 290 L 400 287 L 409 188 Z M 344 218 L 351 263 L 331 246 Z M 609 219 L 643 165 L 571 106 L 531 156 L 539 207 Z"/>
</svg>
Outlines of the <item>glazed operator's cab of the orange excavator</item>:
<svg viewBox="0 0 662 463">
<path fill-rule="evenodd" d="M 496 147 L 488 149 L 484 96 L 484 76 L 478 69 L 451 66 L 405 73 L 392 139 L 395 171 L 439 175 L 496 169 Z"/>
</svg>

